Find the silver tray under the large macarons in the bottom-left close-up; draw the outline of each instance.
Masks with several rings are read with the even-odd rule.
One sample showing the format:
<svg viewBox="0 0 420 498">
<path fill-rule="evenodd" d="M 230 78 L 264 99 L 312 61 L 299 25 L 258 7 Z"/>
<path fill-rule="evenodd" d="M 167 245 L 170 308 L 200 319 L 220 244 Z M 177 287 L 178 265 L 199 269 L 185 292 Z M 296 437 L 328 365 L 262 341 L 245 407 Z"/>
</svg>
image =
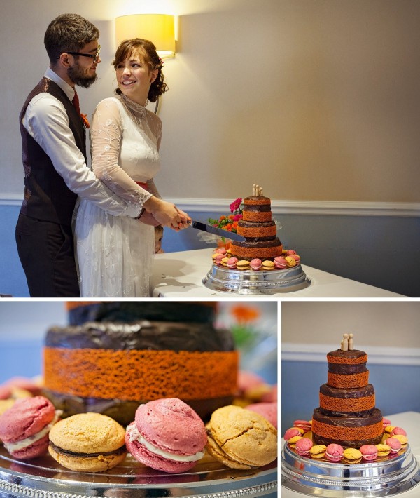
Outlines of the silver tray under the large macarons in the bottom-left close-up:
<svg viewBox="0 0 420 498">
<path fill-rule="evenodd" d="M 0 445 L 0 497 L 36 498 L 160 498 L 276 497 L 276 462 L 239 471 L 204 457 L 188 472 L 168 474 L 150 469 L 128 455 L 110 471 L 74 472 L 49 455 L 26 462 L 15 460 Z"/>
</svg>

